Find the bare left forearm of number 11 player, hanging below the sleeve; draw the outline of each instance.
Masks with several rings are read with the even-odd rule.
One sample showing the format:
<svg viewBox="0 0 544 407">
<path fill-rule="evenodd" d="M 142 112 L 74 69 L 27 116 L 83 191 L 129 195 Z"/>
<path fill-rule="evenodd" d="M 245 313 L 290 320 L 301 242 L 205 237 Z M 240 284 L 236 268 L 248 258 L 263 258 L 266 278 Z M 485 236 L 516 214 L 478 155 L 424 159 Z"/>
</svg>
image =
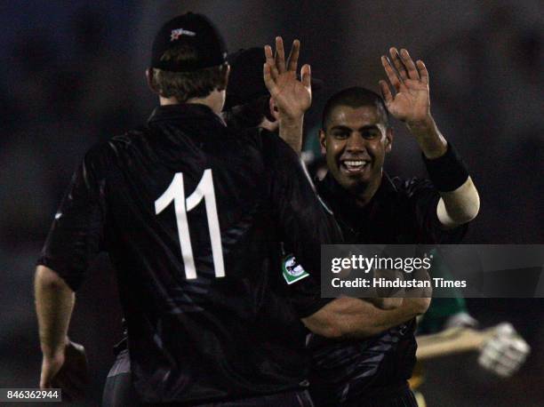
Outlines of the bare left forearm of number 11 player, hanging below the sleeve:
<svg viewBox="0 0 544 407">
<path fill-rule="evenodd" d="M 51 268 L 38 266 L 34 283 L 40 344 L 45 356 L 64 350 L 76 296 Z"/>
</svg>

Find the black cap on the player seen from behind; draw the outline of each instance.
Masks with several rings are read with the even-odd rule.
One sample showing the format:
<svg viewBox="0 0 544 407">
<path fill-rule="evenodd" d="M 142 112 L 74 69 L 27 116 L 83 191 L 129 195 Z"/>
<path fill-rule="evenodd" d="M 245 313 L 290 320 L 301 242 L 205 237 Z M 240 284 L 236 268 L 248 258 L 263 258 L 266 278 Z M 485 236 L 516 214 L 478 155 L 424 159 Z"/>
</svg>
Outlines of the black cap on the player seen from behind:
<svg viewBox="0 0 544 407">
<path fill-rule="evenodd" d="M 188 46 L 196 59 L 164 60 L 164 52 Z M 219 30 L 202 14 L 188 12 L 166 22 L 153 41 L 151 68 L 169 72 L 191 72 L 223 65 L 227 46 Z"/>
</svg>

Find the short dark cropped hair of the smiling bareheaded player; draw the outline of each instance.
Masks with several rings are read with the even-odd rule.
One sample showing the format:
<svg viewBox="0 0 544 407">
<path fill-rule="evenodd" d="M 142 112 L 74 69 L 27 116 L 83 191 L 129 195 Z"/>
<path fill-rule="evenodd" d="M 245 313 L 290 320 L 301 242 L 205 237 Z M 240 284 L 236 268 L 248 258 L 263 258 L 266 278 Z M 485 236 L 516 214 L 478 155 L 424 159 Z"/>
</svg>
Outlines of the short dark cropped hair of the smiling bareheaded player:
<svg viewBox="0 0 544 407">
<path fill-rule="evenodd" d="M 338 106 L 348 106 L 349 108 L 373 106 L 379 111 L 381 110 L 383 124 L 385 124 L 386 127 L 389 127 L 389 112 L 385 106 L 385 102 L 383 99 L 381 99 L 381 96 L 378 93 L 372 92 L 369 89 L 365 89 L 360 86 L 353 86 L 334 93 L 331 98 L 327 100 L 323 109 L 321 121 L 321 126 L 323 129 L 326 129 L 327 122 L 332 114 L 332 110 Z"/>
</svg>

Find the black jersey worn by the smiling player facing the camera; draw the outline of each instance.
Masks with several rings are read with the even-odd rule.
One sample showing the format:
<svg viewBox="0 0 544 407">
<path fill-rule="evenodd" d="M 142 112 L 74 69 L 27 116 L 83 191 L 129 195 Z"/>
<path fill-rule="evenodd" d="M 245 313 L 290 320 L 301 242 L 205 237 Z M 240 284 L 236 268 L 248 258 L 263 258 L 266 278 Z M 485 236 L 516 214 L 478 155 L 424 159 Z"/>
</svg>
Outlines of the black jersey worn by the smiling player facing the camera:
<svg viewBox="0 0 544 407">
<path fill-rule="evenodd" d="M 317 190 L 334 212 L 345 243 L 457 243 L 467 226 L 444 230 L 436 215 L 440 196 L 429 180 L 389 179 L 363 208 L 328 173 Z M 311 335 L 310 393 L 318 405 L 380 405 L 406 390 L 417 344 L 415 319 L 369 339 L 332 341 Z M 370 405 L 370 404 L 369 404 Z"/>
</svg>

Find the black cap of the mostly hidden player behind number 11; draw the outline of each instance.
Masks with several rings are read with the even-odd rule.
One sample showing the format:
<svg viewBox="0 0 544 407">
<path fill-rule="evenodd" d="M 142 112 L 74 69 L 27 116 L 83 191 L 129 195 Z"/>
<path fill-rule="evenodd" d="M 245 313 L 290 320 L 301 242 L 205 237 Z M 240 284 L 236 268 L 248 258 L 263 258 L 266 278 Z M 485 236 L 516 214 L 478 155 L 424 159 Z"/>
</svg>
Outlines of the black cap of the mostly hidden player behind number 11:
<svg viewBox="0 0 544 407">
<path fill-rule="evenodd" d="M 266 62 L 264 48 L 241 49 L 229 54 L 227 60 L 230 64 L 230 75 L 225 109 L 250 103 L 261 96 L 269 96 L 262 77 L 262 68 Z M 312 90 L 318 91 L 321 87 L 323 81 L 312 77 Z"/>
</svg>

